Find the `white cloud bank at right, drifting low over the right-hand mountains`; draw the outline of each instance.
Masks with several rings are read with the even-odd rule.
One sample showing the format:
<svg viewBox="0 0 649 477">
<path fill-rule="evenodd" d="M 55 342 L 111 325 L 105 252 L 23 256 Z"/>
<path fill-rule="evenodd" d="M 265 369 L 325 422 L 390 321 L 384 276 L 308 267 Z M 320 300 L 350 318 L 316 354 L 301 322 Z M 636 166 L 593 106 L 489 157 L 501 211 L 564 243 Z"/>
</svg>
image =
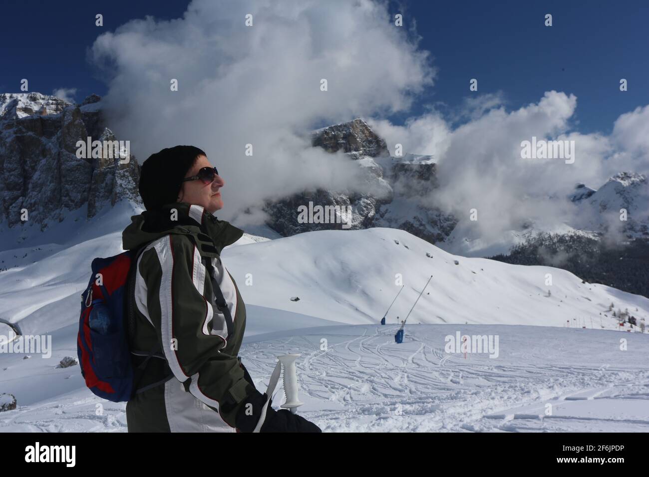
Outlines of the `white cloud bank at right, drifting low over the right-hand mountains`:
<svg viewBox="0 0 649 477">
<path fill-rule="evenodd" d="M 389 147 L 398 142 L 404 153 L 435 156 L 441 186 L 424 203 L 456 215 L 459 237 L 489 243 L 529 221 L 539 228 L 578 223 L 580 211 L 563 200 L 577 183 L 598 188 L 615 173 L 648 168 L 649 106 L 623 114 L 604 136 L 571 130 L 574 95 L 546 92 L 516 110 L 502 103 L 502 95 L 484 95 L 465 101 L 459 112 L 430 112 L 403 126 L 371 122 Z M 458 117 L 465 122 L 454 126 Z M 520 143 L 533 136 L 574 141 L 574 164 L 521 158 Z M 478 221 L 470 220 L 472 209 Z"/>
</svg>

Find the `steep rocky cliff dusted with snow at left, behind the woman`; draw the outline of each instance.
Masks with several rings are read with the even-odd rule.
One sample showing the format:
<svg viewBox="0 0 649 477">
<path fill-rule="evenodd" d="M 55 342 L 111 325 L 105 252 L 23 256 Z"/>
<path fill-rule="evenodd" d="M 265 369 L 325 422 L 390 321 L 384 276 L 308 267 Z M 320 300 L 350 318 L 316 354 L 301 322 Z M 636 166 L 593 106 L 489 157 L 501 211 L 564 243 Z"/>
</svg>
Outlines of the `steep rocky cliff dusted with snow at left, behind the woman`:
<svg viewBox="0 0 649 477">
<path fill-rule="evenodd" d="M 81 104 L 40 93 L 0 94 L 0 233 L 21 225 L 41 230 L 71 211 L 86 218 L 117 201 L 140 202 L 134 156 L 77 158 L 77 141 L 115 141 L 103 125 L 100 98 Z"/>
</svg>

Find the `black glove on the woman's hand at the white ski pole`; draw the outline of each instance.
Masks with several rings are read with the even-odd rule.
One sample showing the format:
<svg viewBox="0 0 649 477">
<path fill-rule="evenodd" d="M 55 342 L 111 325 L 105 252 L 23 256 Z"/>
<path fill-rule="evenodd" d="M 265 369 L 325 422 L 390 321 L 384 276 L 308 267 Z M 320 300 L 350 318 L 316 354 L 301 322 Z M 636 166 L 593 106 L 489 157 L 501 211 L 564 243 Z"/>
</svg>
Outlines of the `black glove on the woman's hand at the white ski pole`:
<svg viewBox="0 0 649 477">
<path fill-rule="evenodd" d="M 252 432 L 254 430 L 262 415 L 263 404 L 265 404 L 267 398 L 266 393 L 262 394 L 259 391 L 254 391 L 243 401 L 235 422 L 240 432 Z M 252 413 L 250 411 L 246 412 L 246 409 L 250 409 L 248 404 L 252 404 Z M 304 417 L 293 414 L 286 409 L 275 411 L 271 404 L 273 404 L 272 399 L 268 402 L 266 416 L 260 432 L 322 432 L 318 426 L 307 421 Z"/>
</svg>

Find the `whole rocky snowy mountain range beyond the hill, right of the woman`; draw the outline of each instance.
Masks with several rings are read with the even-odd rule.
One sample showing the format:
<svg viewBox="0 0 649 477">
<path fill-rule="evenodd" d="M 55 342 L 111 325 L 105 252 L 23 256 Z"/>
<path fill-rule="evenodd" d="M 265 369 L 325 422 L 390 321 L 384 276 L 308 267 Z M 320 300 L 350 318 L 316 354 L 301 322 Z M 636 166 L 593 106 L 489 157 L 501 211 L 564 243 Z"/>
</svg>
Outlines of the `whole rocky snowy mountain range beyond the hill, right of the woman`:
<svg viewBox="0 0 649 477">
<path fill-rule="evenodd" d="M 432 156 L 390 156 L 385 141 L 360 118 L 313 131 L 312 144 L 330 153 L 343 151 L 378 192 L 306 191 L 267 204 L 265 211 L 271 216 L 267 225 L 282 236 L 337 227 L 294 220 L 297 206 L 313 201 L 352 206 L 352 229 L 400 228 L 463 256 L 506 254 L 512 247 L 547 234 L 606 237 L 607 242 L 616 243 L 632 238 L 649 239 L 649 188 L 641 174 L 621 172 L 598 190 L 578 184 L 568 197 L 554 198 L 565 202 L 559 203 L 559 207 L 574 208 L 569 221 L 540 223 L 530 219 L 498 236 L 485 237 L 476 235 L 480 232 L 474 226 L 460 223 L 450 211 L 431 204 L 430 192 L 444 180 L 438 177 Z M 620 209 L 627 211 L 624 221 L 620 220 Z"/>
</svg>

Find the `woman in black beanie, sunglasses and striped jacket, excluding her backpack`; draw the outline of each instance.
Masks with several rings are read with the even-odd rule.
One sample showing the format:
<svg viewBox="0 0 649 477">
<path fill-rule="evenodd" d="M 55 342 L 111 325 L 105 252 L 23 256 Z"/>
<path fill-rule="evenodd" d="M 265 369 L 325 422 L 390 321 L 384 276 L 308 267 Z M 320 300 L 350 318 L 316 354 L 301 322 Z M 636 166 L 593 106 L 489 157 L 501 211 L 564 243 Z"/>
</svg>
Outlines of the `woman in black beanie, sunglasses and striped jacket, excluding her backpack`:
<svg viewBox="0 0 649 477">
<path fill-rule="evenodd" d="M 133 351 L 142 371 L 126 406 L 129 432 L 252 432 L 260 423 L 267 396 L 237 356 L 245 305 L 219 256 L 243 235 L 213 215 L 224 185 L 197 147 L 162 149 L 141 166 L 147 210 L 122 234 L 125 250 L 143 250 L 130 347 L 144 351 Z M 146 359 L 151 350 L 158 354 Z M 320 432 L 270 403 L 261 424 L 261 432 Z"/>
</svg>

